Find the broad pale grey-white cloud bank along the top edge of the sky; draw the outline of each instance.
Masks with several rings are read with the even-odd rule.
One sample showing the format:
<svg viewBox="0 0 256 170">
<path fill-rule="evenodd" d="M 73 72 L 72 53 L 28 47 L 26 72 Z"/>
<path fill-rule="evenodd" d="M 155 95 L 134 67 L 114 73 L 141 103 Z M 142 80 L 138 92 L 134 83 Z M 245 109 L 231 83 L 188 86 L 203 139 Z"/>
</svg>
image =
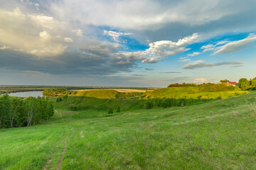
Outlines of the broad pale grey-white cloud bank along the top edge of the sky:
<svg viewBox="0 0 256 170">
<path fill-rule="evenodd" d="M 156 29 L 166 23 L 201 26 L 210 21 L 242 11 L 230 1 L 118 1 L 63 0 L 50 2 L 51 12 L 58 18 L 80 21 L 83 25 L 122 29 Z M 73 15 L 70 15 L 73 13 Z"/>
</svg>

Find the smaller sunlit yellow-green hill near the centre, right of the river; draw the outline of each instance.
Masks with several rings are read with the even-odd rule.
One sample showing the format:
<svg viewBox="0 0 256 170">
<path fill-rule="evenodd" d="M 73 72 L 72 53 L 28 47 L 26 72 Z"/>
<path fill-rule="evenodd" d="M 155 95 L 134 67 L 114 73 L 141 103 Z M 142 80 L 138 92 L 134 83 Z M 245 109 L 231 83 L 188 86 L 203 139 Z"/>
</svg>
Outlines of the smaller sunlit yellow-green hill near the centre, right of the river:
<svg viewBox="0 0 256 170">
<path fill-rule="evenodd" d="M 91 90 L 78 91 L 75 96 L 90 97 L 90 98 L 125 98 L 126 96 L 115 90 Z"/>
</svg>

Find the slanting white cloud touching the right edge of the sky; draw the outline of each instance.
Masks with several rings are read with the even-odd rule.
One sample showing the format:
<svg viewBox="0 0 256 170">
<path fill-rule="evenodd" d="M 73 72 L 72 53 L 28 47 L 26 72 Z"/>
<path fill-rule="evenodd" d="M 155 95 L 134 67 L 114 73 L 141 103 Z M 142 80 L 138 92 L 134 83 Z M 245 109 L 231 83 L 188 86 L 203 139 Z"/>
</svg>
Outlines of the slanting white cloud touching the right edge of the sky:
<svg viewBox="0 0 256 170">
<path fill-rule="evenodd" d="M 255 34 L 250 34 L 247 38 L 243 40 L 236 40 L 233 42 L 228 42 L 227 44 L 218 48 L 214 55 L 225 54 L 230 52 L 235 52 L 239 50 L 243 50 L 246 47 L 250 47 L 251 43 L 256 40 Z"/>
</svg>

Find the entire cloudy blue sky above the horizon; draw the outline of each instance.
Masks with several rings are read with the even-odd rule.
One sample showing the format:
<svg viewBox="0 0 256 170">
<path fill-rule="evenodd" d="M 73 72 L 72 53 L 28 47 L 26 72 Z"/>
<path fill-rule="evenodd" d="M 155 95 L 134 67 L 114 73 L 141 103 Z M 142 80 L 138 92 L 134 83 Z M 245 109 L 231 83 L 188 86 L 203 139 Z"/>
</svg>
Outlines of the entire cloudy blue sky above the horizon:
<svg viewBox="0 0 256 170">
<path fill-rule="evenodd" d="M 255 0 L 0 0 L 0 84 L 256 77 Z"/>
</svg>

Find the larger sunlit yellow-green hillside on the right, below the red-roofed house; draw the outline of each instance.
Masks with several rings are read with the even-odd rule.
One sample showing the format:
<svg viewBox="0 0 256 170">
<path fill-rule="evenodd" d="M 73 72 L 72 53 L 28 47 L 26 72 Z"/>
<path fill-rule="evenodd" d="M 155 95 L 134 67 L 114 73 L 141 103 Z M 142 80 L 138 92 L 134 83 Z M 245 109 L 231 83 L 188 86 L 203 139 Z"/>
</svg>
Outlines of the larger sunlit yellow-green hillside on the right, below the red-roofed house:
<svg viewBox="0 0 256 170">
<path fill-rule="evenodd" d="M 204 96 L 207 99 L 215 99 L 228 98 L 230 96 L 238 96 L 247 93 L 248 91 L 201 92 L 198 86 L 188 86 L 156 89 L 146 95 L 145 98 L 201 98 L 202 96 Z"/>
</svg>

